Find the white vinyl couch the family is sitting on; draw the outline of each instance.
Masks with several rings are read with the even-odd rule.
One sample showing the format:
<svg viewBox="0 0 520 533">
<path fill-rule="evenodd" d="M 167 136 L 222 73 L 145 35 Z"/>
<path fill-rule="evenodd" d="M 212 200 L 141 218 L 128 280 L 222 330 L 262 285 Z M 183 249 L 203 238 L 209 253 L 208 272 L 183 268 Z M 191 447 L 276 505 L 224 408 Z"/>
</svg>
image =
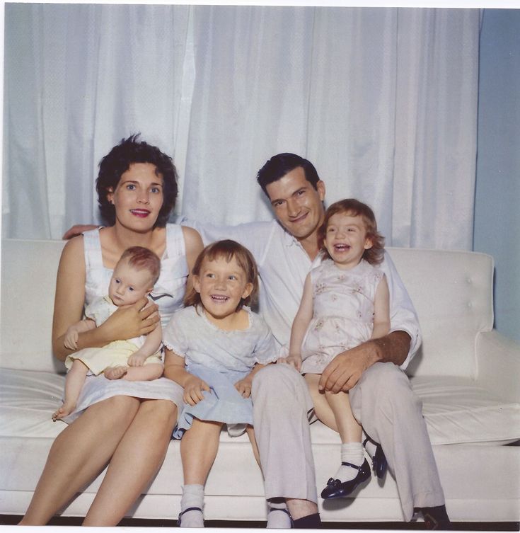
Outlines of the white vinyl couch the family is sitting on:
<svg viewBox="0 0 520 533">
<path fill-rule="evenodd" d="M 64 384 L 52 357 L 54 280 L 61 241 L 4 240 L 1 247 L 0 514 L 21 515 L 53 438 Z M 424 342 L 408 369 L 423 401 L 451 520 L 520 520 L 520 346 L 493 331 L 493 262 L 482 253 L 390 248 L 419 314 Z M 311 428 L 318 491 L 337 468 L 337 435 Z M 419 466 L 419 465 L 418 465 Z M 103 474 L 62 510 L 84 515 Z M 172 441 L 158 475 L 129 516 L 171 519 L 182 469 Z M 208 520 L 265 520 L 262 476 L 246 437 L 222 433 L 209 475 Z M 403 520 L 397 488 L 374 475 L 355 499 L 320 500 L 332 522 Z"/>
</svg>

